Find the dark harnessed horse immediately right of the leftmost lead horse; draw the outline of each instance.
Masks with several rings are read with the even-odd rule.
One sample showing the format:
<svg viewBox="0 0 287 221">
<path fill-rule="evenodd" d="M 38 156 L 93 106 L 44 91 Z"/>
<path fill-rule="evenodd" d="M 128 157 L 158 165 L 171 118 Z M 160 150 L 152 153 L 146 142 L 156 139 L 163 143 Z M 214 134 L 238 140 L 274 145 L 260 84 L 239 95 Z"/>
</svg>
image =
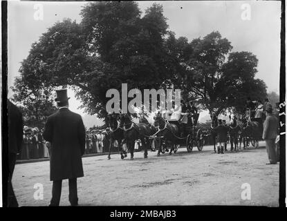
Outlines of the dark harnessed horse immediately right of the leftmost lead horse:
<svg viewBox="0 0 287 221">
<path fill-rule="evenodd" d="M 144 157 L 147 158 L 147 140 L 151 135 L 151 129 L 147 124 L 135 124 L 131 121 L 131 117 L 127 113 L 120 114 L 120 124 L 123 125 L 124 139 L 127 141 L 127 148 L 131 153 L 131 160 L 133 160 L 133 151 L 136 140 L 140 140 L 145 149 Z"/>
</svg>

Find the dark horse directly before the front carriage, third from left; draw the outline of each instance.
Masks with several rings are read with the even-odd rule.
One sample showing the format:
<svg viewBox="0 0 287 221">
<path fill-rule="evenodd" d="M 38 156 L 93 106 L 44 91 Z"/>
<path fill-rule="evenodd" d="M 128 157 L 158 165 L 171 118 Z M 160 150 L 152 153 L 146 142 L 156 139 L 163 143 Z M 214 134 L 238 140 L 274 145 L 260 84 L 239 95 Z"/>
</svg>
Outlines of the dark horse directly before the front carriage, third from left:
<svg viewBox="0 0 287 221">
<path fill-rule="evenodd" d="M 169 124 L 169 122 L 167 122 L 167 120 L 164 119 L 160 114 L 154 117 L 154 126 L 158 127 L 157 137 L 163 137 L 163 140 L 172 143 L 172 148 L 169 151 L 169 155 L 171 155 L 172 151 L 174 151 L 174 145 L 178 142 L 178 126 L 176 126 L 176 124 Z M 158 156 L 160 155 L 160 151 L 162 151 L 163 147 L 162 139 L 160 140 L 161 142 L 158 148 Z M 163 148 L 166 148 L 166 146 Z"/>
</svg>

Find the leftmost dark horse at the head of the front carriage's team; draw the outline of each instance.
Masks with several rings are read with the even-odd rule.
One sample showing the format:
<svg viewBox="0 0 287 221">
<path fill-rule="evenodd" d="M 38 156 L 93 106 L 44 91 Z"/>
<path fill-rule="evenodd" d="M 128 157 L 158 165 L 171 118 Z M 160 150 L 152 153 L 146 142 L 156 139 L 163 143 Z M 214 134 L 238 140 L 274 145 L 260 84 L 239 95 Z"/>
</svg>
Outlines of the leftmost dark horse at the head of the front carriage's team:
<svg viewBox="0 0 287 221">
<path fill-rule="evenodd" d="M 107 115 L 106 122 L 110 128 L 110 133 L 109 133 L 109 155 L 108 155 L 108 160 L 111 160 L 111 146 L 115 142 L 115 140 L 118 142 L 118 148 L 120 151 L 120 157 L 121 159 L 124 159 L 124 157 L 127 157 L 127 152 L 123 151 L 122 149 L 122 140 L 124 139 L 124 130 L 120 125 L 118 125 L 118 117 L 119 114 L 109 114 Z"/>
</svg>

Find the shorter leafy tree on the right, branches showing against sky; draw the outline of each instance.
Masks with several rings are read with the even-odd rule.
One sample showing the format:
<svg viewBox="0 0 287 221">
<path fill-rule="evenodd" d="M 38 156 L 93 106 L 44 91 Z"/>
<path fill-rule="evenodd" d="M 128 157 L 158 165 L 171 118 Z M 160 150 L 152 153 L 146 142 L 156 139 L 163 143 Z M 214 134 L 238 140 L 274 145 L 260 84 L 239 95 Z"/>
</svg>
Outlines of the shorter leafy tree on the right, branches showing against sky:
<svg viewBox="0 0 287 221">
<path fill-rule="evenodd" d="M 176 84 L 203 108 L 219 115 L 226 108 L 243 111 L 246 98 L 263 99 L 266 84 L 255 79 L 257 58 L 250 52 L 231 52 L 228 39 L 211 32 L 203 39 L 174 40 L 184 70 L 178 71 Z"/>
</svg>

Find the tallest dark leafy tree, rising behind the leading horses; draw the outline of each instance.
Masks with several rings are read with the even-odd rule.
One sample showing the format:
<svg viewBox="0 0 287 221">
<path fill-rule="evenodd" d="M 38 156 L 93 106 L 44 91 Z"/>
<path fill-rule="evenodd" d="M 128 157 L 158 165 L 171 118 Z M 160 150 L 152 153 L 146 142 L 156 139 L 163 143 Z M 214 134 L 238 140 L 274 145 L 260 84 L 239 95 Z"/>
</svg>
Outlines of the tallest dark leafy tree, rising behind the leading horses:
<svg viewBox="0 0 287 221">
<path fill-rule="evenodd" d="M 135 2 L 89 3 L 82 10 L 82 26 L 89 50 L 102 62 L 93 71 L 90 95 L 80 93 L 83 106 L 90 113 L 105 115 L 106 92 L 109 88 L 165 88 L 168 78 L 164 36 L 167 23 L 163 8 L 154 4 L 141 15 Z"/>
</svg>

